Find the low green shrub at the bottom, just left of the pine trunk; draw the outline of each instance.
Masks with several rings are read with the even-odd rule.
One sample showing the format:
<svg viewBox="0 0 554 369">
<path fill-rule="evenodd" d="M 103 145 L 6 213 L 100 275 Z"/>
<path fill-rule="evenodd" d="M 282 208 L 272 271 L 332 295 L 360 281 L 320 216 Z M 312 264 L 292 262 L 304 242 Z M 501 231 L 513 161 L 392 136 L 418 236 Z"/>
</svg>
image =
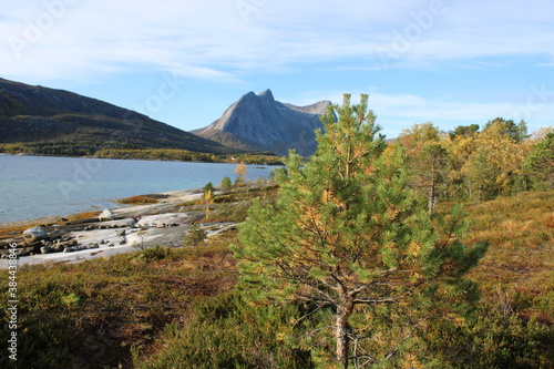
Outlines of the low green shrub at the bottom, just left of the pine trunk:
<svg viewBox="0 0 554 369">
<path fill-rule="evenodd" d="M 284 340 L 298 307 L 246 304 L 235 293 L 199 303 L 166 349 L 138 368 L 314 368 L 309 351 Z"/>
</svg>

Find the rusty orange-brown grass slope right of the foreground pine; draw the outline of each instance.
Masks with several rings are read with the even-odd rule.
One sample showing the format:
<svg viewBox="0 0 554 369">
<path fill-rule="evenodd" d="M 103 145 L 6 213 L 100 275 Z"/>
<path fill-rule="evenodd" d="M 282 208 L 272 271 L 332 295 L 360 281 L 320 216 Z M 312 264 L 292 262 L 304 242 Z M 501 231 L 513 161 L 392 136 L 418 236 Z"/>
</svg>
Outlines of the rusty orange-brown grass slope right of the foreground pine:
<svg viewBox="0 0 554 369">
<path fill-rule="evenodd" d="M 491 243 L 472 271 L 484 298 L 499 300 L 504 294 L 525 314 L 550 311 L 554 321 L 548 303 L 554 291 L 554 192 L 524 193 L 465 209 L 473 224 L 466 242 Z"/>
</svg>

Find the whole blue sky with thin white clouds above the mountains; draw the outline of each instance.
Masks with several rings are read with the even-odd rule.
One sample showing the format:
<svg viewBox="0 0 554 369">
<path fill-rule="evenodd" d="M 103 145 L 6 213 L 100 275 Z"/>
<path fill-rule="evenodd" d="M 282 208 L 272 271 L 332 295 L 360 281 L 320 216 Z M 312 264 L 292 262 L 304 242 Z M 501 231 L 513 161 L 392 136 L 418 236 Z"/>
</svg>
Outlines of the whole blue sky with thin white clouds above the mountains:
<svg viewBox="0 0 554 369">
<path fill-rule="evenodd" d="M 370 107 L 387 137 L 494 117 L 554 125 L 552 0 L 22 0 L 0 76 L 191 131 L 242 95 Z"/>
</svg>

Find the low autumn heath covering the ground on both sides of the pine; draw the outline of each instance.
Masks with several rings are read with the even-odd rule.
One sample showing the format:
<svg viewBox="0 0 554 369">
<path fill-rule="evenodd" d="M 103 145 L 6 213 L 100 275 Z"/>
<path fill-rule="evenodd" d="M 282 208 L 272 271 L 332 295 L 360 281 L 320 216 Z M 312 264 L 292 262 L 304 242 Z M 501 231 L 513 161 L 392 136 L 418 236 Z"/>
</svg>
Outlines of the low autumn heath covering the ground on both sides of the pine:
<svg viewBox="0 0 554 369">
<path fill-rule="evenodd" d="M 234 196 L 239 205 L 225 197 L 212 214 L 244 218 L 248 196 Z M 459 368 L 553 366 L 553 199 L 554 192 L 532 192 L 465 204 L 473 227 L 464 242 L 491 244 L 471 271 L 482 301 L 468 325 L 437 330 L 433 352 L 460 358 Z M 20 267 L 18 367 L 312 367 L 310 352 L 289 341 L 297 308 L 246 306 L 232 291 L 237 270 L 228 245 L 236 242 L 229 230 L 201 247 Z M 0 340 L 7 335 L 1 330 Z"/>
</svg>

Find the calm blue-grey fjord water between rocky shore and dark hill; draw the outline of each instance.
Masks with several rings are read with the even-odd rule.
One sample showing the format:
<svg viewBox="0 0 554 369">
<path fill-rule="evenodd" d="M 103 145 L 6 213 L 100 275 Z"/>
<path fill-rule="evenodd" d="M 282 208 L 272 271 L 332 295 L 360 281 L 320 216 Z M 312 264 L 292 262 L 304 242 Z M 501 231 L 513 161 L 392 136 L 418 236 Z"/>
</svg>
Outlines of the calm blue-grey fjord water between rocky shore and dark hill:
<svg viewBox="0 0 554 369">
<path fill-rule="evenodd" d="M 114 199 L 217 185 L 236 164 L 0 155 L 0 224 L 115 207 Z M 270 166 L 248 165 L 247 178 Z"/>
</svg>

